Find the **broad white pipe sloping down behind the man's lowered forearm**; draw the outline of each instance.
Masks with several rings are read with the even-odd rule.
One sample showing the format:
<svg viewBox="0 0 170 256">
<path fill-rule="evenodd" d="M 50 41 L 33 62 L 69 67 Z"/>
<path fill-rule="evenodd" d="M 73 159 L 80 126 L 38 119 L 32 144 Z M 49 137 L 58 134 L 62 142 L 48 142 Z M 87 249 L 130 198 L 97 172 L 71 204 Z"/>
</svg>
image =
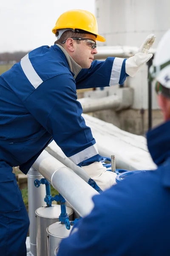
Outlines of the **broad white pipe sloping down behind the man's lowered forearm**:
<svg viewBox="0 0 170 256">
<path fill-rule="evenodd" d="M 104 157 L 115 155 L 116 168 L 127 170 L 156 169 L 147 149 L 146 138 L 123 131 L 115 125 L 93 116 L 87 114 L 82 114 L 82 116 L 86 125 L 91 128 L 99 154 Z M 67 157 L 54 141 L 48 147 L 51 147 L 53 155 L 56 153 L 57 156 L 57 154 L 62 153 L 63 163 L 66 162 Z"/>
</svg>

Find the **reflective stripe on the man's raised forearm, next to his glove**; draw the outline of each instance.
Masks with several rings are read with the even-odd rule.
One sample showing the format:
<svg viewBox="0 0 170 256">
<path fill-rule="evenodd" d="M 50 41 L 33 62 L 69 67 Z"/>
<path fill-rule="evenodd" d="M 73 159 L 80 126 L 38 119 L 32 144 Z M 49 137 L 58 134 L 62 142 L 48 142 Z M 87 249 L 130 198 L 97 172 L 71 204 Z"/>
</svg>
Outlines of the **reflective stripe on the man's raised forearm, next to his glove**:
<svg viewBox="0 0 170 256">
<path fill-rule="evenodd" d="M 109 86 L 119 84 L 123 61 L 124 61 L 124 58 L 115 58 L 114 59 Z"/>
</svg>

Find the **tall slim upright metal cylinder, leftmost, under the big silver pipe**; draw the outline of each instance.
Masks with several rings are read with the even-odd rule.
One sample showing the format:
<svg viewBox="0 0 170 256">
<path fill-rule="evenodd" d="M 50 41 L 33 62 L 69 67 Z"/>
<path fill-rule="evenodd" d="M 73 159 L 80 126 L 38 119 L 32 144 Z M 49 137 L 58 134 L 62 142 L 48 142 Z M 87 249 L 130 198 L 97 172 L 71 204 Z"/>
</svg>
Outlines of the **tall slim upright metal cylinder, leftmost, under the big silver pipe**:
<svg viewBox="0 0 170 256">
<path fill-rule="evenodd" d="M 39 188 L 34 186 L 35 179 L 43 178 L 34 167 L 31 167 L 28 172 L 28 215 L 30 219 L 29 236 L 30 236 L 30 252 L 37 256 L 37 242 L 36 242 L 36 214 L 37 208 L 44 204 L 45 186 L 41 185 Z"/>
</svg>

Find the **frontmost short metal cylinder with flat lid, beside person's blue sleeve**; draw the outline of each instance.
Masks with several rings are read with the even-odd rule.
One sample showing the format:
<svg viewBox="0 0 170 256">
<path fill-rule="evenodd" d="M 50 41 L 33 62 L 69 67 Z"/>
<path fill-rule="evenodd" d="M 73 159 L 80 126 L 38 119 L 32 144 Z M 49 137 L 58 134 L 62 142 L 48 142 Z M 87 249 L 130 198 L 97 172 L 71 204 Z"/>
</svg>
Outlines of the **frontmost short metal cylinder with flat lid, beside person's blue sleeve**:
<svg viewBox="0 0 170 256">
<path fill-rule="evenodd" d="M 67 230 L 61 222 L 53 223 L 47 227 L 48 256 L 56 256 L 61 240 L 69 236 L 71 229 Z"/>
</svg>

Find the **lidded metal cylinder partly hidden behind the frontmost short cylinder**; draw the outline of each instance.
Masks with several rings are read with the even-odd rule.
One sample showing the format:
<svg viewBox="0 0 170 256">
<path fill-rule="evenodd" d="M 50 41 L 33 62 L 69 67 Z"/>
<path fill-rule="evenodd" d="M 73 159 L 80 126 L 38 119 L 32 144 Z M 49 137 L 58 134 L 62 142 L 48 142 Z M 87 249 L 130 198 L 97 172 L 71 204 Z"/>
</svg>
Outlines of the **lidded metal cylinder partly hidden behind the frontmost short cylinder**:
<svg viewBox="0 0 170 256">
<path fill-rule="evenodd" d="M 70 220 L 73 220 L 73 209 L 66 207 Z M 59 221 L 61 214 L 60 205 L 53 204 L 51 207 L 40 207 L 36 210 L 37 216 L 37 256 L 47 256 L 47 235 L 46 229 L 52 223 Z M 63 224 L 65 227 L 65 224 Z M 66 227 L 65 227 L 66 229 Z M 55 247 L 56 248 L 56 247 Z"/>
</svg>

